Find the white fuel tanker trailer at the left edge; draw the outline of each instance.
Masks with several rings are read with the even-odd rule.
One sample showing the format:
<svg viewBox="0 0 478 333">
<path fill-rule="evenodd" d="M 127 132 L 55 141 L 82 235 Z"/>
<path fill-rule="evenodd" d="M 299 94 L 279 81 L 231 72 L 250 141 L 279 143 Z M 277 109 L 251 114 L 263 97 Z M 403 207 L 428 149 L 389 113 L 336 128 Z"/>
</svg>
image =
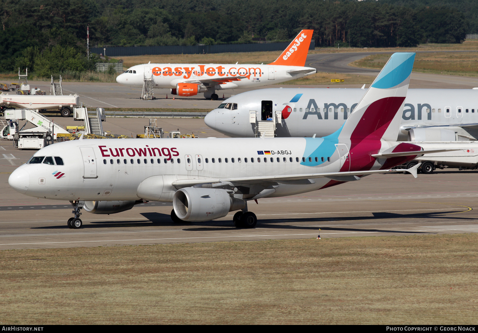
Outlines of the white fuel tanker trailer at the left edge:
<svg viewBox="0 0 478 333">
<path fill-rule="evenodd" d="M 70 117 L 74 107 L 81 107 L 78 95 L 0 95 L 0 107 L 29 108 L 36 110 L 60 110 L 63 117 Z"/>
</svg>

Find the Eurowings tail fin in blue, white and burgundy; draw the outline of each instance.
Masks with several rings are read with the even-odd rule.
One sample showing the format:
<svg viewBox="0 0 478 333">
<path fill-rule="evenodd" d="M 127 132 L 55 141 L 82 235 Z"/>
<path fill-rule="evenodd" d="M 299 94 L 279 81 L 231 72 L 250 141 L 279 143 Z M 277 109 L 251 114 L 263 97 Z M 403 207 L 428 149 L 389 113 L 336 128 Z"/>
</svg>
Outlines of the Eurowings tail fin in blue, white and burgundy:
<svg viewBox="0 0 478 333">
<path fill-rule="evenodd" d="M 397 140 L 414 59 L 414 53 L 392 54 L 340 130 L 340 142 Z"/>
</svg>

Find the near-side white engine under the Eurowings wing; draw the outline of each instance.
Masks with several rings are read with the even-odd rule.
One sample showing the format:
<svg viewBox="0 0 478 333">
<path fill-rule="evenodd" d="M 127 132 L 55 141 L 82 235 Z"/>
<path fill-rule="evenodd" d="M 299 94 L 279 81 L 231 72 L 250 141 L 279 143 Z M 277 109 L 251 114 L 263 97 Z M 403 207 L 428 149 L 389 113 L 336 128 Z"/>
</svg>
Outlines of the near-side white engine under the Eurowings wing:
<svg viewBox="0 0 478 333">
<path fill-rule="evenodd" d="M 190 222 L 214 220 L 245 206 L 245 200 L 231 197 L 223 189 L 185 187 L 173 196 L 174 213 Z"/>
</svg>

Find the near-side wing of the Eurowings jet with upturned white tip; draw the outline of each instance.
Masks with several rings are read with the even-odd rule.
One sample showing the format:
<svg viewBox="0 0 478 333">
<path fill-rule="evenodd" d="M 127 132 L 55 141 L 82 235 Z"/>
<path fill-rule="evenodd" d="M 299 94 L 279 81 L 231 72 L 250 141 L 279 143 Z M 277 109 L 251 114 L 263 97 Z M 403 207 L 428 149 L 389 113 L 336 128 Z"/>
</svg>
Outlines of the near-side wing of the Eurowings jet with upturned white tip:
<svg viewBox="0 0 478 333">
<path fill-rule="evenodd" d="M 417 164 L 420 165 L 421 163 Z M 263 184 L 263 183 L 282 183 L 293 181 L 305 181 L 315 178 L 330 178 L 337 181 L 348 182 L 358 180 L 356 176 L 366 176 L 374 173 L 389 173 L 389 172 L 410 172 L 413 177 L 417 177 L 417 165 L 410 169 L 386 169 L 386 170 L 370 170 L 370 171 L 350 171 L 350 172 L 325 172 L 325 173 L 306 173 L 306 174 L 289 174 L 279 176 L 263 176 L 263 177 L 241 177 L 241 178 L 208 178 L 208 179 L 180 179 L 173 182 L 176 188 L 183 188 L 204 183 L 218 183 L 229 182 L 238 184 Z"/>
</svg>

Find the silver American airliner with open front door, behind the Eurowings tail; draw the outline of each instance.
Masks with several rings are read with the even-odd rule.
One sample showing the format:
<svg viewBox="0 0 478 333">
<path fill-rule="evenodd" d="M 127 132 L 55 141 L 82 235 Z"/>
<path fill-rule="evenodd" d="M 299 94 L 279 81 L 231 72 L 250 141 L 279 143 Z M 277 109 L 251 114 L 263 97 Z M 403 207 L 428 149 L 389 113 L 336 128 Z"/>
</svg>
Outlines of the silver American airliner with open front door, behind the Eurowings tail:
<svg viewBox="0 0 478 333">
<path fill-rule="evenodd" d="M 266 120 L 280 111 L 276 137 L 321 137 L 344 124 L 365 92 L 359 88 L 253 90 L 228 98 L 204 120 L 230 137 L 248 138 L 255 136 L 251 112 L 255 119 Z M 398 140 L 478 140 L 478 90 L 409 89 L 401 119 Z"/>
</svg>

